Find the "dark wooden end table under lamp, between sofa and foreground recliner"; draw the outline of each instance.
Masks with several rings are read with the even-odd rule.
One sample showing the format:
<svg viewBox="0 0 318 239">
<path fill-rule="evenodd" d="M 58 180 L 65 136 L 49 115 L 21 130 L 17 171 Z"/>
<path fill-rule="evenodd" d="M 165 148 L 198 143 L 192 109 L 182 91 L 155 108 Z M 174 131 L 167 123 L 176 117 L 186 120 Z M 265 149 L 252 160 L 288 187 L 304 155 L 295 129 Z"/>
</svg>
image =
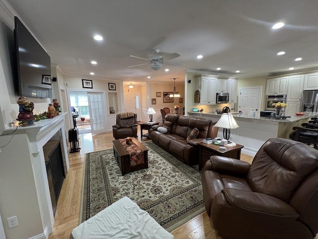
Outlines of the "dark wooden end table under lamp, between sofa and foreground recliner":
<svg viewBox="0 0 318 239">
<path fill-rule="evenodd" d="M 240 159 L 240 150 L 243 145 L 236 144 L 235 146 L 225 146 L 226 150 L 221 150 L 220 145 L 215 145 L 214 143 L 198 143 L 200 149 L 199 155 L 199 170 L 202 166 L 210 159 L 212 155 L 219 155 L 229 158 Z"/>
</svg>

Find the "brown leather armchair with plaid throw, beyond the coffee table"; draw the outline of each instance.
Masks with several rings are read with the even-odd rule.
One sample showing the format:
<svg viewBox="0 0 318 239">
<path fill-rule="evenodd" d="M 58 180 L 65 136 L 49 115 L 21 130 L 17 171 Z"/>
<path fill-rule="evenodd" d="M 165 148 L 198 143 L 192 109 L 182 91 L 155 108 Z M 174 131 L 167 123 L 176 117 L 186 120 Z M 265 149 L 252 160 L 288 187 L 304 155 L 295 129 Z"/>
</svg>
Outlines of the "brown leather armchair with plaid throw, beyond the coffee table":
<svg viewBox="0 0 318 239">
<path fill-rule="evenodd" d="M 121 119 L 120 114 L 116 116 L 116 124 L 113 125 L 113 136 L 115 139 L 135 137 L 137 138 L 137 115 L 133 117 Z"/>
</svg>

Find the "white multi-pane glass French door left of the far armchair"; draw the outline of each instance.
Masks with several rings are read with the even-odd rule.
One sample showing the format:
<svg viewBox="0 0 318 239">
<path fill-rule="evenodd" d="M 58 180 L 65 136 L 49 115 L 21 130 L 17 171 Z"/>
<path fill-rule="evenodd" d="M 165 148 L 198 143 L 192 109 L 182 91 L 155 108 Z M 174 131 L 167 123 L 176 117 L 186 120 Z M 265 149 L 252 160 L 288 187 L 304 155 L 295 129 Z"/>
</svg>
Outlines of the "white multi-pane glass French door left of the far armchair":
<svg viewBox="0 0 318 239">
<path fill-rule="evenodd" d="M 103 93 L 88 93 L 91 134 L 95 135 L 106 131 L 106 117 Z"/>
</svg>

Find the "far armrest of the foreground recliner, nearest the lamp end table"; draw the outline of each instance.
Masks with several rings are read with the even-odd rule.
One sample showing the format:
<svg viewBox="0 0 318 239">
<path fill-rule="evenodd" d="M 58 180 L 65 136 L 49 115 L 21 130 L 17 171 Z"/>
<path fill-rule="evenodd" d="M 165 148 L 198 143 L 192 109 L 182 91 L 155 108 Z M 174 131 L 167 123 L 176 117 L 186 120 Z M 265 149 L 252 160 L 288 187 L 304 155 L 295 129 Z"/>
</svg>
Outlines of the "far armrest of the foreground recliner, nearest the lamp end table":
<svg viewBox="0 0 318 239">
<path fill-rule="evenodd" d="M 233 175 L 246 176 L 250 169 L 250 164 L 239 159 L 223 156 L 211 156 L 210 160 L 204 165 L 203 171 L 213 170 L 226 172 Z"/>
</svg>

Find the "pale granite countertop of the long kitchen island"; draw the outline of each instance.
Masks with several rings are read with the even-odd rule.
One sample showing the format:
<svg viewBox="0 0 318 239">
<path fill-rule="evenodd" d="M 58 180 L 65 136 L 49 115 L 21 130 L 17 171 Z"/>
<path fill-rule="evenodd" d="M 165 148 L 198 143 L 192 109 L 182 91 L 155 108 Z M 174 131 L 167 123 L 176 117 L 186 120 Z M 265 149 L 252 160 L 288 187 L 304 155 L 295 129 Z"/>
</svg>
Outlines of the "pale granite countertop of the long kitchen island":
<svg viewBox="0 0 318 239">
<path fill-rule="evenodd" d="M 318 116 L 318 112 L 305 112 L 303 116 L 291 116 L 290 118 L 286 119 L 272 119 L 268 117 L 259 117 L 259 116 L 249 116 L 246 113 L 239 114 L 238 112 L 232 112 L 234 118 L 242 118 L 242 119 L 256 119 L 256 120 L 266 120 L 266 121 L 275 121 L 275 122 L 295 122 L 300 119 L 306 119 L 310 117 L 316 117 Z M 214 112 L 208 112 L 208 113 L 201 113 L 201 112 L 188 112 L 189 116 L 205 116 L 205 117 L 221 117 L 222 114 L 215 114 Z"/>
</svg>

